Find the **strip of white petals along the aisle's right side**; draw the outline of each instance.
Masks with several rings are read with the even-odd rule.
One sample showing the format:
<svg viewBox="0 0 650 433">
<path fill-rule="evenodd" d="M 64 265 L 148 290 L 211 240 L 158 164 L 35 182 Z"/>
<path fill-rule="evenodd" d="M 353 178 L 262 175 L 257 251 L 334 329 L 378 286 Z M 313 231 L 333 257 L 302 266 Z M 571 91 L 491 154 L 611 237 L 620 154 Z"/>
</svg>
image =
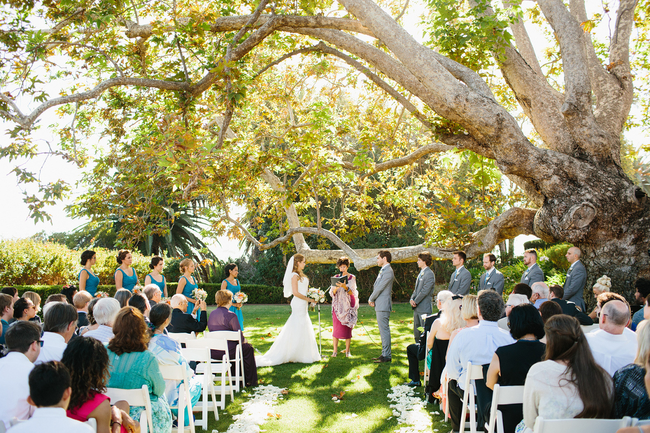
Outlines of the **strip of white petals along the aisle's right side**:
<svg viewBox="0 0 650 433">
<path fill-rule="evenodd" d="M 406 424 L 395 432 L 398 433 L 419 433 L 430 432 L 433 422 L 431 416 L 426 412 L 425 402 L 415 396 L 413 388 L 406 385 L 393 386 L 391 393 L 387 395 L 391 404 L 393 415 L 397 422 Z"/>
</svg>

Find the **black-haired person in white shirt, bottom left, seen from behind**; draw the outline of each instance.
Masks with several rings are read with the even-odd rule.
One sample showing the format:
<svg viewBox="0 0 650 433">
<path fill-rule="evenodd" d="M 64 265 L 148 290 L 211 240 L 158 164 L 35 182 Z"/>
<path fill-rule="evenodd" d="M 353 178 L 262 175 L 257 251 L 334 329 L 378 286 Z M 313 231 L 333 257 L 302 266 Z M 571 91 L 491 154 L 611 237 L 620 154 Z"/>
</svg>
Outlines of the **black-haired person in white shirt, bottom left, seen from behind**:
<svg viewBox="0 0 650 433">
<path fill-rule="evenodd" d="M 87 424 L 66 416 L 70 403 L 70 373 L 57 361 L 36 365 L 29 373 L 29 397 L 34 415 L 9 430 L 12 433 L 94 433 Z"/>
</svg>

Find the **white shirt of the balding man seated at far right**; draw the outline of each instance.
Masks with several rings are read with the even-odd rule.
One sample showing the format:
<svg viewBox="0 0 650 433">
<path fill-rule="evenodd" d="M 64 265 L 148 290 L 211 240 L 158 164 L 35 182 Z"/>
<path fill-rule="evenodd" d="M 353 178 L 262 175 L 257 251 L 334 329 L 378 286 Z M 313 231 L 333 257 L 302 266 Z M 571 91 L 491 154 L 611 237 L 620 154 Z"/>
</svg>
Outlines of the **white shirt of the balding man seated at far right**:
<svg viewBox="0 0 650 433">
<path fill-rule="evenodd" d="M 610 376 L 614 376 L 617 369 L 631 364 L 636 358 L 638 346 L 636 334 L 627 328 L 623 330 L 623 334 L 619 335 L 597 329 L 585 336 L 593 358 Z"/>
</svg>

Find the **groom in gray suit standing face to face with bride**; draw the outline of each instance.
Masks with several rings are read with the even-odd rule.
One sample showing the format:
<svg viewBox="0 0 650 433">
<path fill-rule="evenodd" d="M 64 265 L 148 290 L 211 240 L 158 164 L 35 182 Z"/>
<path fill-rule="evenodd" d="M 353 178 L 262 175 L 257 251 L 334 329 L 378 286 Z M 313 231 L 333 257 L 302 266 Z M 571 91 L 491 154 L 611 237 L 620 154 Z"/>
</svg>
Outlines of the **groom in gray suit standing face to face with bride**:
<svg viewBox="0 0 650 433">
<path fill-rule="evenodd" d="M 379 270 L 377 279 L 374 281 L 372 287 L 372 294 L 368 298 L 368 304 L 374 307 L 374 314 L 377 317 L 377 326 L 379 327 L 379 335 L 382 337 L 382 354 L 379 358 L 372 358 L 375 362 L 391 362 L 391 327 L 389 320 L 391 319 L 391 309 L 393 309 L 393 301 L 391 294 L 393 293 L 393 280 L 395 274 L 391 268 L 391 253 L 388 251 L 380 251 L 377 255 L 377 266 L 382 267 Z"/>
</svg>

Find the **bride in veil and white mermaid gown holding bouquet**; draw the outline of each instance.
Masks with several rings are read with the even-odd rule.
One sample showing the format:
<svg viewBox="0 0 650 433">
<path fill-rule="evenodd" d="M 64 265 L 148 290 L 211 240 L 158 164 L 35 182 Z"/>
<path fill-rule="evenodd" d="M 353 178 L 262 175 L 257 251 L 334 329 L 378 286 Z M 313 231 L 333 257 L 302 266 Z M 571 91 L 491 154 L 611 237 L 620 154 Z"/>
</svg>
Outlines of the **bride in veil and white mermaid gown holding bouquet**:
<svg viewBox="0 0 650 433">
<path fill-rule="evenodd" d="M 255 356 L 257 367 L 287 362 L 320 361 L 314 327 L 307 313 L 309 278 L 302 273 L 305 263 L 305 256 L 302 254 L 294 254 L 287 263 L 283 285 L 285 298 L 293 295 L 291 315 L 268 352 Z"/>
</svg>

